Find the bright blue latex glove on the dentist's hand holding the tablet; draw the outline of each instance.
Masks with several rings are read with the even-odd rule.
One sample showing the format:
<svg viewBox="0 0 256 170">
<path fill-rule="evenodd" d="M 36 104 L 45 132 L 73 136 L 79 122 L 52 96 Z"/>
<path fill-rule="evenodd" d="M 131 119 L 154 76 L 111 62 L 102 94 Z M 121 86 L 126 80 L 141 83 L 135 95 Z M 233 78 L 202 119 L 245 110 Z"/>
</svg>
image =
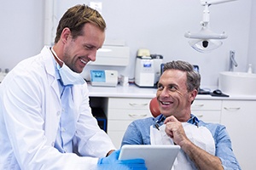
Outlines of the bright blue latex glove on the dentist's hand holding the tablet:
<svg viewBox="0 0 256 170">
<path fill-rule="evenodd" d="M 132 159 L 132 160 L 118 160 L 120 150 L 113 151 L 108 157 L 102 157 L 98 161 L 98 169 L 118 169 L 118 170 L 128 170 L 128 169 L 139 169 L 147 170 L 145 161 L 143 159 Z"/>
</svg>

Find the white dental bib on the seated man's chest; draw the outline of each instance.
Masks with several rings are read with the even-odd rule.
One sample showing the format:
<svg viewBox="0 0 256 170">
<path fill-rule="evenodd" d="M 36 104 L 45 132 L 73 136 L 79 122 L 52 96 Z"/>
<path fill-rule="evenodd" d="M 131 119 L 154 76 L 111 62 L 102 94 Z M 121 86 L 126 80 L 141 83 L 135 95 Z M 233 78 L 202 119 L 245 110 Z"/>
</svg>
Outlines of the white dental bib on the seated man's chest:
<svg viewBox="0 0 256 170">
<path fill-rule="evenodd" d="M 206 150 L 208 153 L 215 156 L 215 143 L 212 138 L 212 133 L 207 129 L 207 127 L 197 127 L 191 123 L 183 122 L 183 129 L 188 137 L 188 139 L 195 145 L 200 147 L 202 150 Z M 150 127 L 150 142 L 151 144 L 173 144 L 173 140 L 167 136 L 165 129 L 166 125 L 159 127 L 160 130 Z M 165 158 L 163 158 L 165 159 Z M 180 150 L 172 170 L 192 170 L 196 169 L 194 163 L 189 159 L 183 150 Z"/>
</svg>

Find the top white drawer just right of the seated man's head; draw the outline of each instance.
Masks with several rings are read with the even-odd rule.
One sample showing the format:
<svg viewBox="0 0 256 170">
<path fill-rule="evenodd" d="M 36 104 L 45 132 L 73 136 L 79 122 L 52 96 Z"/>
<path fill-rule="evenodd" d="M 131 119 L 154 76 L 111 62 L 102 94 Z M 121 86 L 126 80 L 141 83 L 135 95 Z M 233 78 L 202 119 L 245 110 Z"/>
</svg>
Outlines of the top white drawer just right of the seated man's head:
<svg viewBox="0 0 256 170">
<path fill-rule="evenodd" d="M 192 111 L 221 111 L 221 100 L 195 99 L 191 106 Z"/>
</svg>

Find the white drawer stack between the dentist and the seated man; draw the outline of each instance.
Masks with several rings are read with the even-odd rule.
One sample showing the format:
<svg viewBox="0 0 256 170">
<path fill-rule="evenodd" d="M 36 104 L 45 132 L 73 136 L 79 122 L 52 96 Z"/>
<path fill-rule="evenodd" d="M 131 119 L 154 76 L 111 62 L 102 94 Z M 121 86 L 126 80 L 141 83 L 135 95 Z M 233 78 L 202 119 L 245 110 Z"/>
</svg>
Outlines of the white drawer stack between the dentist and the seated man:
<svg viewBox="0 0 256 170">
<path fill-rule="evenodd" d="M 128 125 L 136 120 L 152 116 L 150 99 L 108 98 L 108 135 L 119 148 Z"/>
</svg>

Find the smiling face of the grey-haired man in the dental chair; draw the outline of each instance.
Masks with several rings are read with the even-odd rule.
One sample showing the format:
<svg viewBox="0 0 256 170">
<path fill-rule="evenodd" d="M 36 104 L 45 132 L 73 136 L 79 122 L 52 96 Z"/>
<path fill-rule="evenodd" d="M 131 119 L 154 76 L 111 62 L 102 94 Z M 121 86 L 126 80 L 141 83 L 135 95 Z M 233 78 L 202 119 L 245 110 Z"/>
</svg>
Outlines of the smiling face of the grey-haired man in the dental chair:
<svg viewBox="0 0 256 170">
<path fill-rule="evenodd" d="M 157 99 L 164 116 L 175 116 L 180 122 L 190 117 L 191 93 L 187 90 L 185 71 L 167 70 L 160 77 Z"/>
</svg>

